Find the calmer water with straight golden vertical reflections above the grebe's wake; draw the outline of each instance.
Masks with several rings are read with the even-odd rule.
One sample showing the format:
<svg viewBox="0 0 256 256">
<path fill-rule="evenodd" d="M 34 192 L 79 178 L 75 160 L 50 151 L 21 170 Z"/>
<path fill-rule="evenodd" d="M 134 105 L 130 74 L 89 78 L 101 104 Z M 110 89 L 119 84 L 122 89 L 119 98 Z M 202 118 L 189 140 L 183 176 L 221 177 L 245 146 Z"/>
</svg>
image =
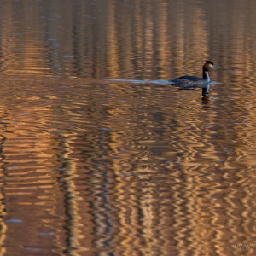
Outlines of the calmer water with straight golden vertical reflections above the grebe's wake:
<svg viewBox="0 0 256 256">
<path fill-rule="evenodd" d="M 3 2 L 3 73 L 170 79 L 207 58 L 255 70 L 252 1 L 131 2 Z"/>
</svg>

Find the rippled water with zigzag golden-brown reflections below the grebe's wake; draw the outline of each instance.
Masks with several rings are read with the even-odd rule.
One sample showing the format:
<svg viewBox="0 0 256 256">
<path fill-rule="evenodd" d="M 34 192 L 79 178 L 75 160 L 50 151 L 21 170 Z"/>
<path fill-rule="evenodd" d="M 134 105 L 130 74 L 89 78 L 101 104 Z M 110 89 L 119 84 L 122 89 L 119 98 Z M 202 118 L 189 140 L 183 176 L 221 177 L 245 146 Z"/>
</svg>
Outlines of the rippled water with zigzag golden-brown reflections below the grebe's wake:
<svg viewBox="0 0 256 256">
<path fill-rule="evenodd" d="M 253 244 L 247 105 L 230 108 L 236 124 L 218 115 L 222 100 L 181 104 L 197 92 L 154 84 L 19 77 L 2 93 L 9 253 L 239 255 L 233 244 Z"/>
</svg>

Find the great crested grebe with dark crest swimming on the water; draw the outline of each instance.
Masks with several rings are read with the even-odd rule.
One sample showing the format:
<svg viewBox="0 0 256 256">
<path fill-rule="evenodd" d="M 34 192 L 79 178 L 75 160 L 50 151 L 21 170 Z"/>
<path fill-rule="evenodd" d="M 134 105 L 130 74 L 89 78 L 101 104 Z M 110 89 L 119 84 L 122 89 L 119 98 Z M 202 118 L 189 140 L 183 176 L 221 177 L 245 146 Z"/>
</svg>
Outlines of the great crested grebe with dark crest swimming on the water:
<svg viewBox="0 0 256 256">
<path fill-rule="evenodd" d="M 202 67 L 202 78 L 198 78 L 195 76 L 182 76 L 179 77 L 177 79 L 172 79 L 169 82 L 171 82 L 172 84 L 180 84 L 180 85 L 203 85 L 203 84 L 207 84 L 211 81 L 210 77 L 209 77 L 209 70 L 211 68 L 214 68 L 214 64 L 212 63 L 212 61 L 205 61 L 203 67 Z"/>
</svg>

